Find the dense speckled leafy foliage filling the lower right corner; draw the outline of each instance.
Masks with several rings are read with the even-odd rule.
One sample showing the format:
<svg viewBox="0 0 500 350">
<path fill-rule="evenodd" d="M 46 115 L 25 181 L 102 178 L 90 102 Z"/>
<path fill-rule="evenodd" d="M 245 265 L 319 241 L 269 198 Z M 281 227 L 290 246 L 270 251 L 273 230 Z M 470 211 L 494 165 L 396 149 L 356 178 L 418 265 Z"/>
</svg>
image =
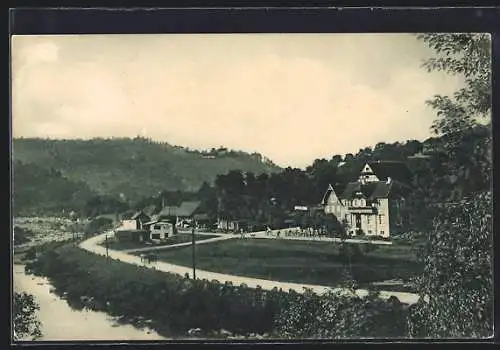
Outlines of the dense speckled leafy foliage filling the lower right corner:
<svg viewBox="0 0 500 350">
<path fill-rule="evenodd" d="M 425 301 L 412 308 L 411 336 L 492 336 L 491 212 L 491 193 L 484 193 L 447 207 L 436 218 L 418 279 Z"/>
</svg>

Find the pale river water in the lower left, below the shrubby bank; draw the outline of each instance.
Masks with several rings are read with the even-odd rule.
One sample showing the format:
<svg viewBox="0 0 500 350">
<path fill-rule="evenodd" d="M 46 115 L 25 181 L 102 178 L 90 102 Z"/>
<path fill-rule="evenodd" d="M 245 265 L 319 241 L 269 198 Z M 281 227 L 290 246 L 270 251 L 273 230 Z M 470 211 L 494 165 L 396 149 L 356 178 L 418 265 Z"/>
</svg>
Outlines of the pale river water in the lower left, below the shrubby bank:
<svg viewBox="0 0 500 350">
<path fill-rule="evenodd" d="M 26 275 L 23 265 L 14 265 L 14 289 L 33 294 L 40 305 L 38 318 L 42 323 L 40 341 L 77 340 L 164 340 L 153 330 L 139 330 L 122 325 L 104 312 L 78 311 L 50 292 L 46 278 Z"/>
</svg>

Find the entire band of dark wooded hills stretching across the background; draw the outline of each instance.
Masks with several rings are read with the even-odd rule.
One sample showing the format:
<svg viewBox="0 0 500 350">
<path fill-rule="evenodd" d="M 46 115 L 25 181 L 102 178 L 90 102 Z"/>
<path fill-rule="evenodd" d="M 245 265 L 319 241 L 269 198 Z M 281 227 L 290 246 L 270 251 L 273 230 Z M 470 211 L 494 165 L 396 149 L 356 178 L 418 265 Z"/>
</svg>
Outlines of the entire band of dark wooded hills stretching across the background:
<svg viewBox="0 0 500 350">
<path fill-rule="evenodd" d="M 241 217 L 240 209 L 262 209 L 258 203 L 272 197 L 279 199 L 284 210 L 297 204 L 318 204 L 328 184 L 341 188 L 357 178 L 365 162 L 377 160 L 407 163 L 416 181 L 414 192 L 421 192 L 420 196 L 425 199 L 433 197 L 433 201 L 442 201 L 452 191 L 470 193 L 489 184 L 487 174 L 478 171 L 481 167 L 476 164 L 484 158 L 477 150 L 487 148 L 485 142 L 491 138 L 489 128 L 476 127 L 462 134 L 459 152 L 455 152 L 458 162 L 453 164 L 449 162 L 450 152 L 445 144 L 449 145 L 455 137 L 448 135 L 424 142 L 380 142 L 357 153 L 316 159 L 304 170 L 280 169 L 260 154 L 224 148 L 191 151 L 142 138 L 16 139 L 13 143 L 14 215 L 60 213 L 62 209 L 91 215 L 152 203 L 159 205 L 161 198 L 165 203 L 177 203 L 197 195 L 206 182 L 205 190 L 212 185 L 209 187 L 216 190 L 218 196 L 205 198 L 212 214 L 222 210 Z M 446 183 L 446 179 L 454 181 L 452 178 L 460 176 L 466 168 L 469 170 L 463 181 L 455 181 L 453 186 Z M 271 176 L 259 176 L 266 173 Z M 257 187 L 243 191 L 246 194 L 238 202 L 235 193 L 241 191 L 234 189 L 252 187 L 253 179 Z M 204 197 L 203 193 L 198 196 Z M 224 199 L 226 195 L 229 197 Z M 247 202 L 250 197 L 252 203 Z"/>
</svg>

